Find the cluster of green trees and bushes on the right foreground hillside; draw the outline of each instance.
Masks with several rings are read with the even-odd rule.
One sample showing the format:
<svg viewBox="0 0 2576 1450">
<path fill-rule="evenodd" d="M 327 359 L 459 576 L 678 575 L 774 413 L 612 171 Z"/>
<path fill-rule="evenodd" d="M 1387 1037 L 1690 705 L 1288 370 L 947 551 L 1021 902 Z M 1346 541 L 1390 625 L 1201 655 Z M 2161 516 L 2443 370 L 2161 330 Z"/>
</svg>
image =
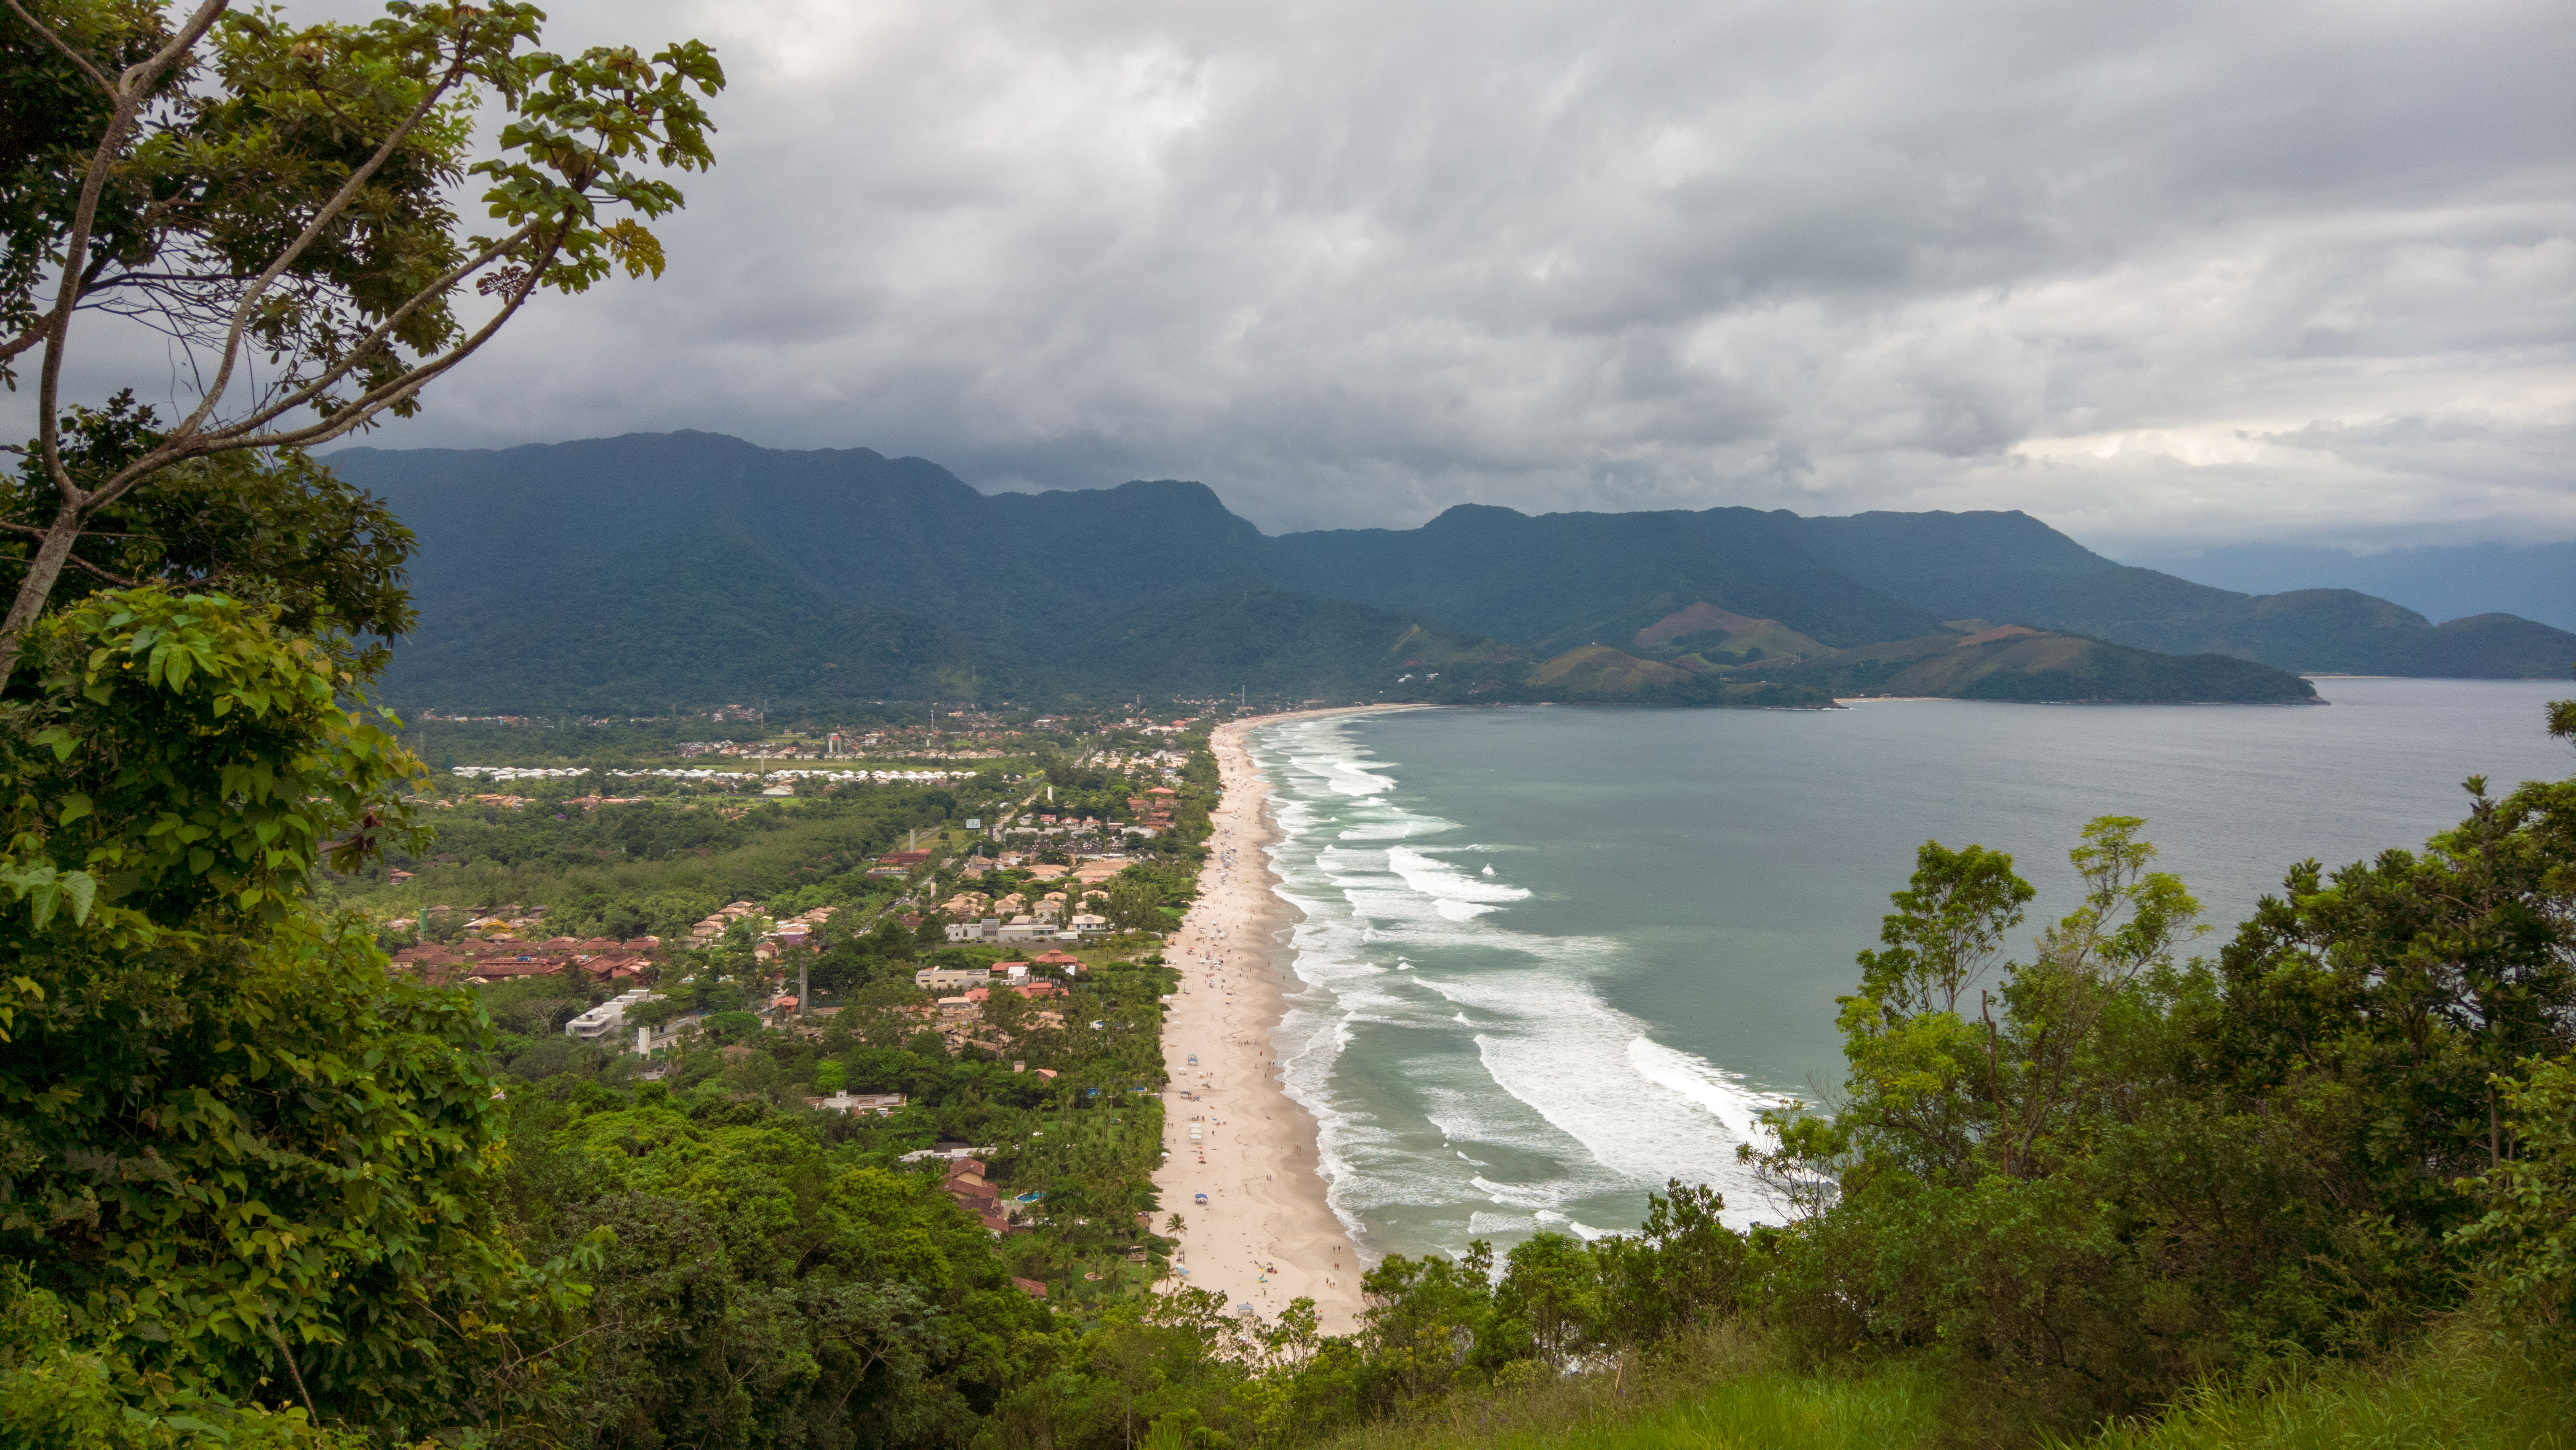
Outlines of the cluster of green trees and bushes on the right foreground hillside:
<svg viewBox="0 0 2576 1450">
<path fill-rule="evenodd" d="M 2143 822 L 2105 816 L 2071 852 L 2081 907 L 1973 1015 L 2027 886 L 1927 845 L 1842 999 L 1847 1102 L 1770 1115 L 1749 1154 L 1806 1195 L 1757 1236 L 1765 1316 L 1808 1352 L 1927 1355 L 1996 1427 L 2061 1432 L 2254 1347 L 2393 1344 L 2478 1252 L 2499 1303 L 2553 1321 L 2555 1241 L 2524 1226 L 2566 1187 L 2514 1102 L 2550 1100 L 2532 1053 L 2576 1030 L 2576 788 L 2470 788 L 2421 855 L 2295 868 L 2215 968 L 2179 961 L 2197 907 Z M 2473 1192 L 2494 1218 L 2463 1231 Z"/>
</svg>

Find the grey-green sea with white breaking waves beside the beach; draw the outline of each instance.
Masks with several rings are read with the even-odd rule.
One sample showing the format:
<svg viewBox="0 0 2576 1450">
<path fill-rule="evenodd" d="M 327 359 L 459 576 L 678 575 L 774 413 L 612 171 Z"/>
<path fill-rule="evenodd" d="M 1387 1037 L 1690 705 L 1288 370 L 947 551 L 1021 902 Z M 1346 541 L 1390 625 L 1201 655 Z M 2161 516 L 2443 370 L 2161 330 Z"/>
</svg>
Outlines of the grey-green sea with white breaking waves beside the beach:
<svg viewBox="0 0 2576 1450">
<path fill-rule="evenodd" d="M 2568 775 L 2550 683 L 2321 680 L 2326 708 L 1409 711 L 1252 731 L 1296 992 L 1278 1048 L 1376 1252 L 1618 1231 L 1667 1177 L 1767 1218 L 1734 1162 L 1839 1077 L 1834 994 L 1922 840 L 2066 850 L 2146 816 L 2218 940 L 2300 858 L 2414 847 L 2460 780 Z"/>
</svg>

